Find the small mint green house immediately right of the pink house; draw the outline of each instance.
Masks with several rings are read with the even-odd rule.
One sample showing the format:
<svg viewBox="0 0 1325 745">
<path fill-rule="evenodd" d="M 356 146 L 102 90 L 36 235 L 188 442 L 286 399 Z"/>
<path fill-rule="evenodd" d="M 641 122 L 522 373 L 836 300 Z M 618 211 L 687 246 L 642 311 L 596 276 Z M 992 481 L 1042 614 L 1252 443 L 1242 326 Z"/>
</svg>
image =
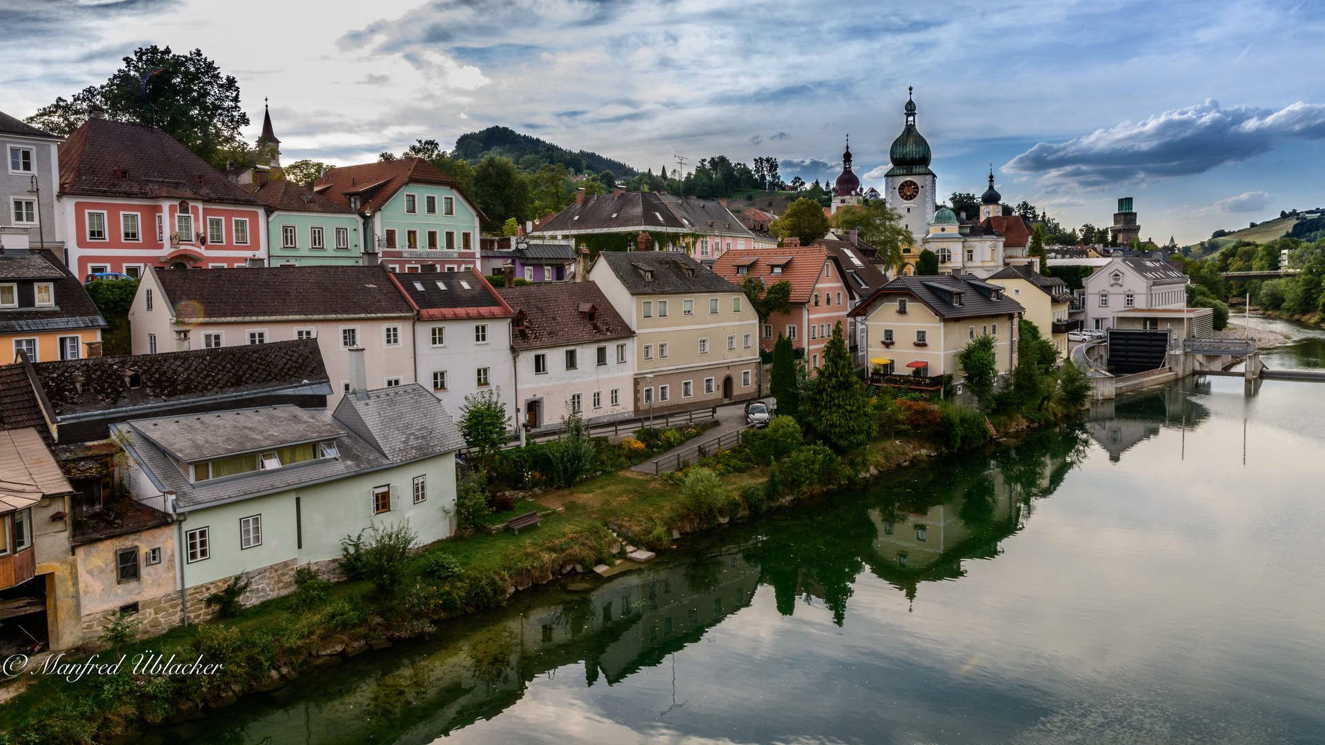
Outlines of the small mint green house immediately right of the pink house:
<svg viewBox="0 0 1325 745">
<path fill-rule="evenodd" d="M 257 176 L 238 187 L 266 203 L 270 266 L 364 264 L 363 223 L 352 209 L 302 184 Z"/>
</svg>

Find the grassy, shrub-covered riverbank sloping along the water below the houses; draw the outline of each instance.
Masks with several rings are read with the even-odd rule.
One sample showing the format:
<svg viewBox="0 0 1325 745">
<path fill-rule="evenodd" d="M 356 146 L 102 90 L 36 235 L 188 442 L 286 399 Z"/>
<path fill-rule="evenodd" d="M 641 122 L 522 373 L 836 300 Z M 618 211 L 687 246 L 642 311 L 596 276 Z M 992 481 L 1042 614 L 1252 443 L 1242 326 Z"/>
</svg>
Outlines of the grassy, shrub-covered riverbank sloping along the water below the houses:
<svg viewBox="0 0 1325 745">
<path fill-rule="evenodd" d="M 901 406 L 901 404 L 898 404 Z M 242 608 L 235 618 L 176 628 L 125 644 L 117 675 L 24 676 L 26 688 L 0 708 L 0 744 L 132 741 L 155 725 L 204 716 L 252 692 L 280 688 L 299 671 L 392 642 L 428 636 L 444 619 L 502 604 L 514 591 L 576 570 L 625 561 L 625 544 L 666 550 L 681 533 L 742 520 L 808 494 L 856 485 L 880 472 L 988 443 L 984 415 L 945 404 L 905 402 L 889 437 L 837 455 L 804 441 L 790 418 L 750 437 L 749 445 L 701 459 L 664 479 L 629 469 L 570 488 L 519 494 L 513 509 L 537 509 L 538 528 L 478 532 L 428 546 L 401 562 L 390 586 L 305 578 L 286 598 Z M 1073 411 L 1049 403 L 1031 418 L 990 418 L 998 436 L 1053 423 Z M 768 465 L 770 460 L 778 465 Z M 176 655 L 224 668 L 212 676 L 134 673 L 140 654 Z M 102 652 L 102 658 L 114 652 Z M 73 656 L 73 655 L 72 655 Z M 9 685 L 16 685 L 11 683 Z"/>
</svg>

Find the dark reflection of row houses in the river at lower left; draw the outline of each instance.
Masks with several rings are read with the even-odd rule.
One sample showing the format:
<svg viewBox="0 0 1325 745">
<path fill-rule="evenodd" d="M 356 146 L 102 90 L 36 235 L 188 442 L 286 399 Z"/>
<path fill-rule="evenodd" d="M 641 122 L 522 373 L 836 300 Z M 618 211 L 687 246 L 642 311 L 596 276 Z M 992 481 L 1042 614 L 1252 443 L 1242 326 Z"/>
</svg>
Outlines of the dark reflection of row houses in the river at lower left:
<svg viewBox="0 0 1325 745">
<path fill-rule="evenodd" d="M 244 725 L 261 742 L 429 742 L 515 704 L 537 676 L 584 660 L 592 683 L 608 683 L 661 661 L 747 606 L 759 567 L 723 553 L 656 571 L 611 578 L 592 591 L 481 626 L 439 650 L 411 656 L 347 689 L 344 668 L 330 696 L 301 679 L 305 701 Z M 579 579 L 568 578 L 571 582 Z M 457 619 L 460 627 L 466 620 Z M 456 623 L 456 622 L 452 622 Z M 456 628 L 457 626 L 452 626 Z M 355 661 L 371 658 L 356 658 Z M 339 675 L 338 675 L 339 673 Z M 327 681 L 333 685 L 333 681 Z M 317 700 L 314 700 L 317 699 Z"/>
</svg>

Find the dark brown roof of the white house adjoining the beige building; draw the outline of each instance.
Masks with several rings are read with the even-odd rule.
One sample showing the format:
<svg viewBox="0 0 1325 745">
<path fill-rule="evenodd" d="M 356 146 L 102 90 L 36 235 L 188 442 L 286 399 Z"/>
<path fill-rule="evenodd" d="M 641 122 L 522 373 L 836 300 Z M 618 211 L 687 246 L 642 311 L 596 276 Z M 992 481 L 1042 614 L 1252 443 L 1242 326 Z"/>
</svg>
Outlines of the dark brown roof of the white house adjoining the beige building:
<svg viewBox="0 0 1325 745">
<path fill-rule="evenodd" d="M 497 290 L 515 310 L 511 346 L 530 349 L 574 345 L 632 335 L 598 282 L 538 284 Z M 584 306 L 594 309 L 594 321 Z"/>
</svg>

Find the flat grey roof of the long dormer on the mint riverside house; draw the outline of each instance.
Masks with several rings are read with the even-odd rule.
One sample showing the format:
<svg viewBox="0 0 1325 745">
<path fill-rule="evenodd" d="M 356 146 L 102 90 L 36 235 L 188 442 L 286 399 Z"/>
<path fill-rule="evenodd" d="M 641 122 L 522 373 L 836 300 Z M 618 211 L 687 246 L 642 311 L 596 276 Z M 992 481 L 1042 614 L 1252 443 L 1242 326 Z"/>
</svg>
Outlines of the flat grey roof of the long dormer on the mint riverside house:
<svg viewBox="0 0 1325 745">
<path fill-rule="evenodd" d="M 186 463 L 329 440 L 346 433 L 338 422 L 292 404 L 236 408 L 129 422 L 156 447 Z"/>
</svg>

